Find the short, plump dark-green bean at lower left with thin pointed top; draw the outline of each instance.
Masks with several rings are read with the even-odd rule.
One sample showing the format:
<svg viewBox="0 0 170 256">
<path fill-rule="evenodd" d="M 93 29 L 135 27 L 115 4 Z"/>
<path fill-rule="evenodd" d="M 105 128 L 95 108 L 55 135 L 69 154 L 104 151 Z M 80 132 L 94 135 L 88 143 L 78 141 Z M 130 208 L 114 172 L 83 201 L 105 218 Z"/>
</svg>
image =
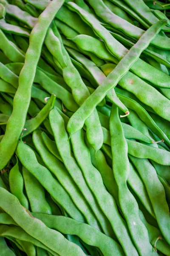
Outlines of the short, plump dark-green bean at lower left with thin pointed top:
<svg viewBox="0 0 170 256">
<path fill-rule="evenodd" d="M 29 203 L 23 192 L 24 180 L 19 170 L 18 159 L 16 165 L 9 172 L 9 186 L 11 193 L 19 199 L 20 204 L 28 209 Z"/>
</svg>

